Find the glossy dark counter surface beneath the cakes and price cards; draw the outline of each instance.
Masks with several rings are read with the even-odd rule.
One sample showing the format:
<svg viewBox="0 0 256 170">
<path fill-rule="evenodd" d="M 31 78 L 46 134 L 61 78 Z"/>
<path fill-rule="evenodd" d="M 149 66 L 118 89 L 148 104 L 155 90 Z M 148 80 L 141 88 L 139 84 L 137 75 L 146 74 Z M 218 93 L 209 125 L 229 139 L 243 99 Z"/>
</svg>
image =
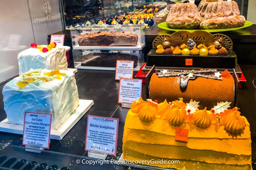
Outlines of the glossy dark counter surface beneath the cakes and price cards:
<svg viewBox="0 0 256 170">
<path fill-rule="evenodd" d="M 250 123 L 252 136 L 252 166 L 256 168 L 256 120 L 255 103 L 256 103 L 256 88 L 253 86 L 253 79 L 256 78 L 255 65 L 240 65 L 243 70 L 247 82 L 243 82 L 242 88 L 239 90 L 238 107 L 240 107 L 241 115 L 244 115 Z M 135 75 L 135 74 L 134 74 Z M 128 170 L 128 166 L 117 166 L 111 164 L 110 160 L 117 160 L 122 153 L 122 138 L 124 131 L 124 122 L 128 108 L 121 107 L 117 103 L 119 81 L 115 80 L 115 71 L 102 70 L 78 70 L 76 73 L 76 84 L 78 87 L 78 94 L 80 99 L 93 100 L 94 105 L 84 115 L 79 122 L 68 132 L 68 134 L 61 140 L 51 140 L 50 149 L 46 149 L 42 153 L 26 152 L 22 144 L 22 135 L 0 132 L 0 169 L 13 169 L 13 166 L 19 160 L 25 161 L 22 168 L 25 166 L 38 164 L 47 166 L 49 169 L 57 166 L 57 169 L 70 170 Z M 4 85 L 0 85 L 0 121 L 6 118 L 3 104 L 2 89 Z M 142 85 L 142 94 L 145 94 L 145 84 Z M 143 96 L 145 98 L 145 96 Z M 88 158 L 85 148 L 85 133 L 87 115 L 106 116 L 119 119 L 118 126 L 118 140 L 117 140 L 117 155 L 108 156 L 109 164 L 76 164 L 76 160 L 96 160 Z M 9 162 L 7 162 L 9 161 Z M 18 167 L 15 166 L 15 167 Z M 35 168 L 35 167 L 34 167 Z M 19 169 L 19 168 L 16 168 Z M 25 168 L 26 170 L 29 168 Z M 24 169 L 24 170 L 25 170 Z M 51 169 L 51 168 L 50 168 Z M 139 170 L 132 168 L 132 170 Z"/>
</svg>

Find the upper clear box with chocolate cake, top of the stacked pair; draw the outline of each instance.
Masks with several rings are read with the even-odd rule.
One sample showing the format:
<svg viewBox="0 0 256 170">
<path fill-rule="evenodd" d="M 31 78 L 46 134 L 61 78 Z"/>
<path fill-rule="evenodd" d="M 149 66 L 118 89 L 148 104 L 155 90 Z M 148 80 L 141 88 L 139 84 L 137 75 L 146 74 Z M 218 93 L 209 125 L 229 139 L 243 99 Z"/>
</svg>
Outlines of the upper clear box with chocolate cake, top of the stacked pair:
<svg viewBox="0 0 256 170">
<path fill-rule="evenodd" d="M 90 25 L 72 28 L 73 49 L 141 50 L 145 45 L 144 28 L 144 25 Z"/>
</svg>

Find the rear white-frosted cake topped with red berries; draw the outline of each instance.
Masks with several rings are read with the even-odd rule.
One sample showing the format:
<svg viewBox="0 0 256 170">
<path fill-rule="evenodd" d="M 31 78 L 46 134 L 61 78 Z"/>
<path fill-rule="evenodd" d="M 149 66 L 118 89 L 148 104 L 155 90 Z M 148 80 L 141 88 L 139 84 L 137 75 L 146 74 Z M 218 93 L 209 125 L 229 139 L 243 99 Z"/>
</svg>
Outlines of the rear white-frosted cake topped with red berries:
<svg viewBox="0 0 256 170">
<path fill-rule="evenodd" d="M 31 48 L 20 52 L 18 63 L 20 75 L 30 69 L 68 70 L 65 47 L 54 43 L 48 46 L 32 43 Z"/>
</svg>

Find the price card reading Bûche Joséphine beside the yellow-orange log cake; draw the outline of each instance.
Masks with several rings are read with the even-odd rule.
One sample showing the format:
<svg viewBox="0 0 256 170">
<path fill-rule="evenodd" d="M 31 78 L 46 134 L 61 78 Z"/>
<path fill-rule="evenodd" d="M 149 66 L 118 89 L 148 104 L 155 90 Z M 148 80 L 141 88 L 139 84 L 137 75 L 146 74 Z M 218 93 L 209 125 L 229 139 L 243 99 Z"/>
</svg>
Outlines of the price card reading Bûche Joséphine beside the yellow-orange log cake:
<svg viewBox="0 0 256 170">
<path fill-rule="evenodd" d="M 85 151 L 105 151 L 116 156 L 119 119 L 88 115 Z"/>
</svg>

